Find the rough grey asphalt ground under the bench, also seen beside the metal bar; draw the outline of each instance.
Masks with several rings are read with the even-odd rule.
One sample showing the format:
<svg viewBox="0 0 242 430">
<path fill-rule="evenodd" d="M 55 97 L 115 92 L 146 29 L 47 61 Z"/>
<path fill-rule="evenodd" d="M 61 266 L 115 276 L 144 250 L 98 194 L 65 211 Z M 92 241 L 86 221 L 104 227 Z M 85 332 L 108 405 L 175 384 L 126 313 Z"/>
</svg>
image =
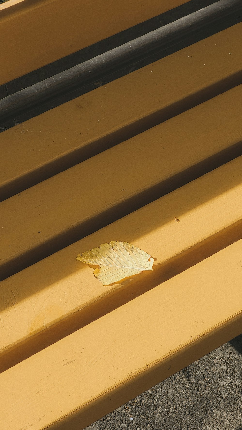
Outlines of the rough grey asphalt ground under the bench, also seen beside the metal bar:
<svg viewBox="0 0 242 430">
<path fill-rule="evenodd" d="M 67 68 L 86 61 L 102 52 L 126 43 L 161 25 L 205 7 L 213 0 L 192 0 L 172 11 L 165 12 L 147 22 L 123 31 L 66 58 L 55 61 L 37 71 L 0 87 L 0 98 L 46 79 Z M 156 61 L 176 50 L 195 43 L 224 28 L 241 22 L 242 17 L 230 18 L 225 24 L 214 26 L 188 39 L 172 49 L 156 54 L 148 60 L 132 64 L 131 67 L 104 77 L 100 82 L 84 86 L 64 95 L 34 111 L 1 124 L 0 131 L 21 123 L 37 114 L 64 103 L 71 98 L 104 85 L 137 68 Z M 241 329 L 242 331 L 242 329 Z M 162 379 L 162 375 L 160 377 Z M 242 430 L 242 335 L 202 357 L 187 368 L 157 384 L 150 390 L 130 400 L 86 430 Z M 71 430 L 71 429 L 70 429 Z"/>
</svg>

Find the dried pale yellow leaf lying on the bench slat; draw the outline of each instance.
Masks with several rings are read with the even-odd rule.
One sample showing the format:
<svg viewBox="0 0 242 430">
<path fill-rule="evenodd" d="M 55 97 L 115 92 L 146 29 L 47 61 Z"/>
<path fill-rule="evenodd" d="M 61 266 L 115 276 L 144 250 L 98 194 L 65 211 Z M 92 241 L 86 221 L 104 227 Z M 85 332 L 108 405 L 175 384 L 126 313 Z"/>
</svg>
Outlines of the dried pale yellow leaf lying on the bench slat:
<svg viewBox="0 0 242 430">
<path fill-rule="evenodd" d="M 86 264 L 98 265 L 94 276 L 103 285 L 111 285 L 122 279 L 141 273 L 143 270 L 153 270 L 154 259 L 128 242 L 112 240 L 103 243 L 99 248 L 77 255 L 76 260 Z"/>
</svg>

